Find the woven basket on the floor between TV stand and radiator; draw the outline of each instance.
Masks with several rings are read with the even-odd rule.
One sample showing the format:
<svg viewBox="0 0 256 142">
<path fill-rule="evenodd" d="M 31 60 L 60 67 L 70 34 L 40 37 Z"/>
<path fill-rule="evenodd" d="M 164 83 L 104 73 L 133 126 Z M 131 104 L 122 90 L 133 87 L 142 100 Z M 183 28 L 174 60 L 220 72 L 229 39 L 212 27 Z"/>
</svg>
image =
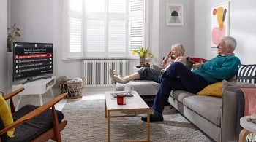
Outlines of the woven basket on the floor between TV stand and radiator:
<svg viewBox="0 0 256 142">
<path fill-rule="evenodd" d="M 60 82 L 59 90 L 61 93 L 67 93 L 66 98 L 82 98 L 83 88 L 86 78 L 83 77 L 81 82 Z"/>
</svg>

